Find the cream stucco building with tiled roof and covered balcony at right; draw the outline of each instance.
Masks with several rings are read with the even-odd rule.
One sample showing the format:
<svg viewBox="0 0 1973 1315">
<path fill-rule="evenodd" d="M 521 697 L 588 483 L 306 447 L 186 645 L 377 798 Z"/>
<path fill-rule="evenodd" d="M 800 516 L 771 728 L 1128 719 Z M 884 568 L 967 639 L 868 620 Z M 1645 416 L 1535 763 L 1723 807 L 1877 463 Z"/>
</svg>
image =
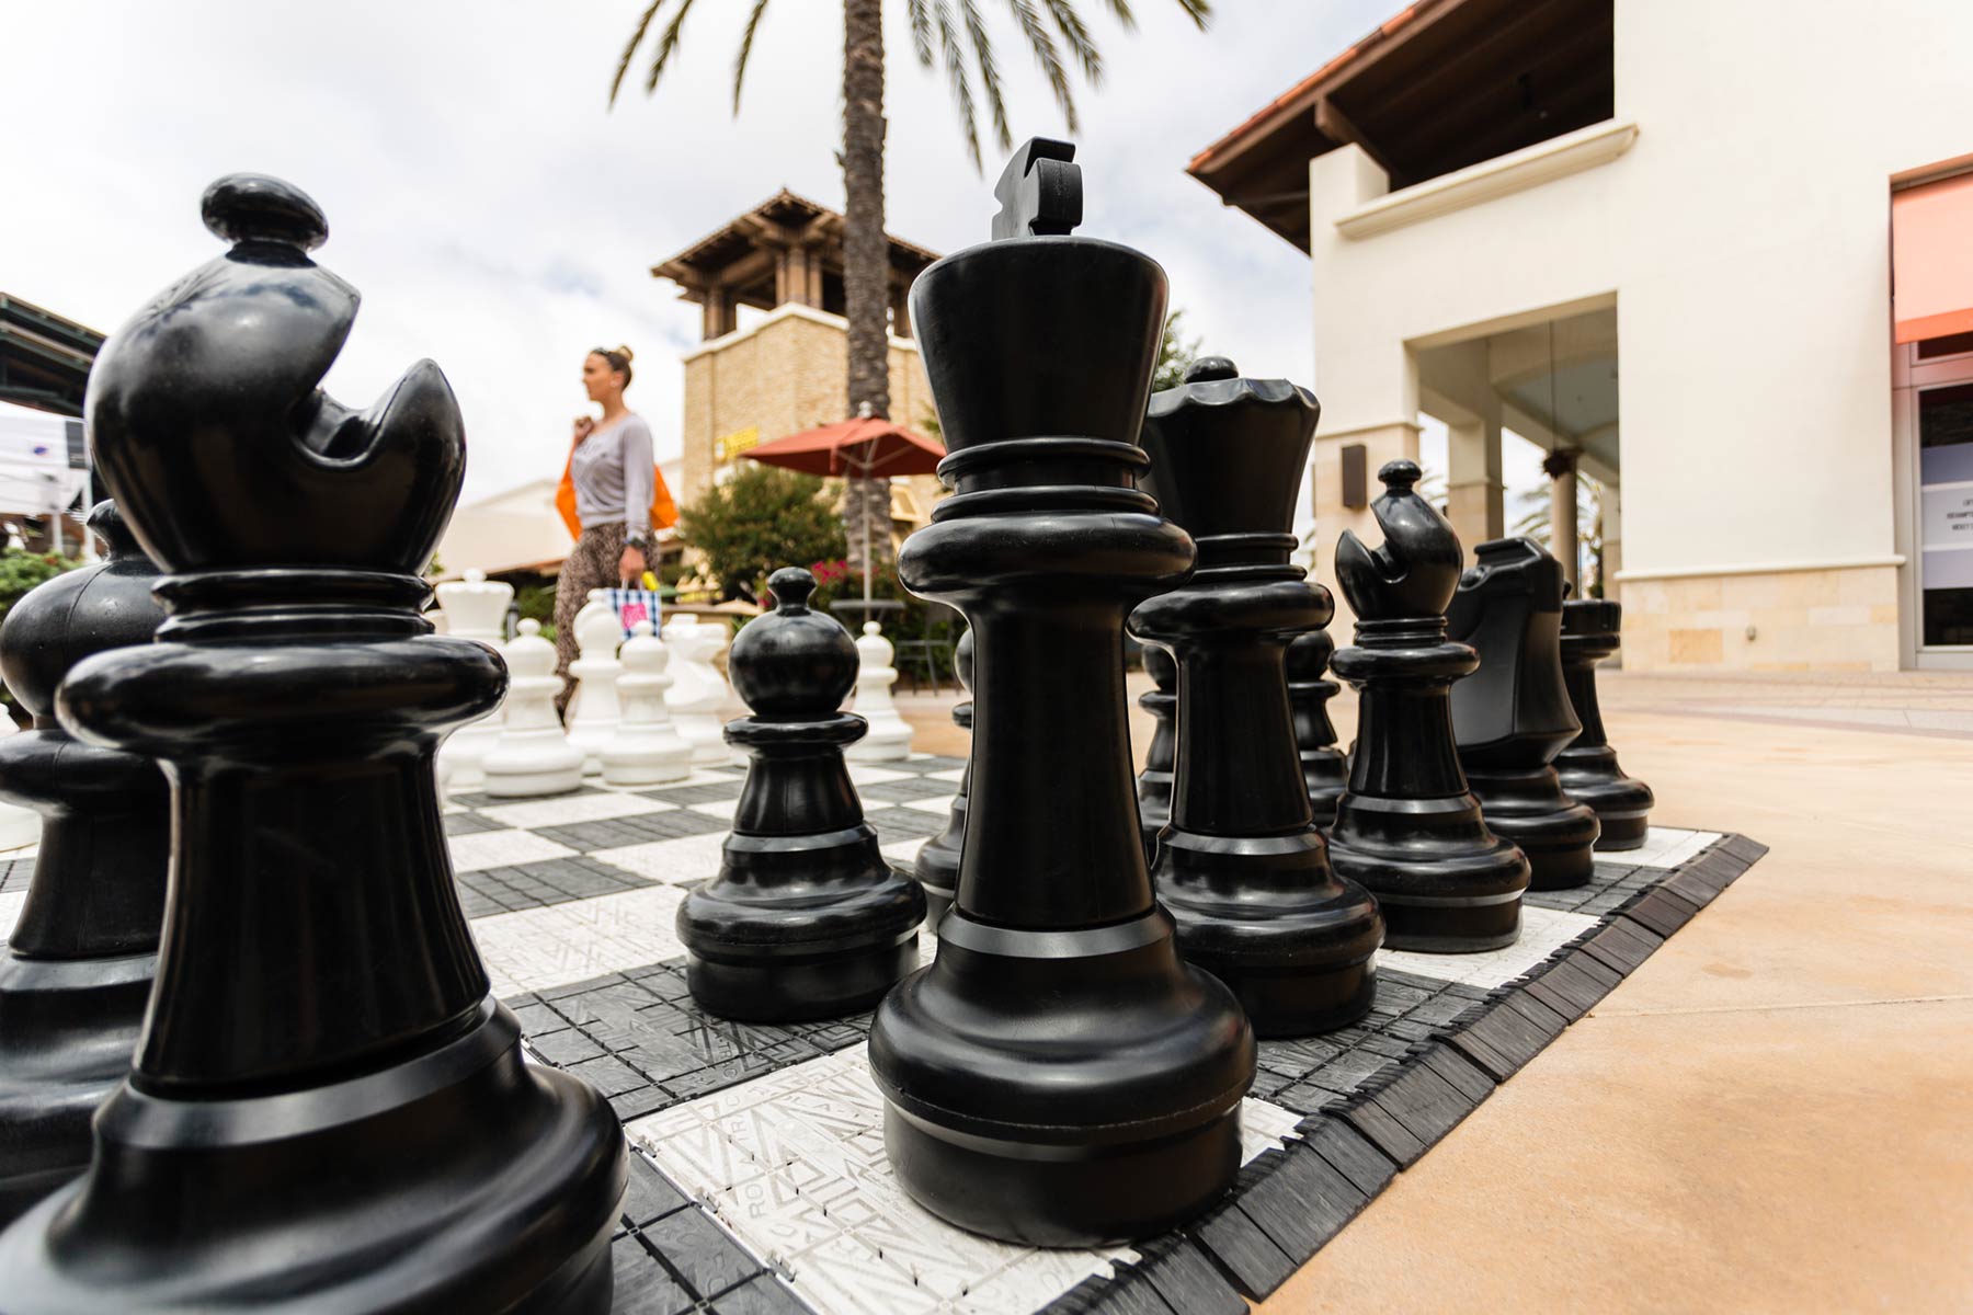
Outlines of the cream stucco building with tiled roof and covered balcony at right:
<svg viewBox="0 0 1973 1315">
<path fill-rule="evenodd" d="M 1606 483 L 1634 668 L 1973 664 L 1969 41 L 1936 0 L 1421 0 L 1200 152 L 1310 256 L 1324 580 L 1423 412 L 1468 548 L 1501 428 Z"/>
</svg>

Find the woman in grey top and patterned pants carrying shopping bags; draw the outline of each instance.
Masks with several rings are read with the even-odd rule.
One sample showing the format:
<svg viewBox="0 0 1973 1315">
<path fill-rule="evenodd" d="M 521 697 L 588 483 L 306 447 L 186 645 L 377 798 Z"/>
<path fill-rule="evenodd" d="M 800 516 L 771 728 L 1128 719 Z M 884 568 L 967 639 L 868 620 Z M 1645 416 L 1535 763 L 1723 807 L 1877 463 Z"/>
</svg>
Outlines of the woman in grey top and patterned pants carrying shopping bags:
<svg viewBox="0 0 1973 1315">
<path fill-rule="evenodd" d="M 629 347 L 598 347 L 582 359 L 582 388 L 604 414 L 576 418 L 568 469 L 554 495 L 576 536 L 554 584 L 554 674 L 562 678 L 556 710 L 566 710 L 574 692 L 568 664 L 576 660 L 576 613 L 590 589 L 635 582 L 657 560 L 655 530 L 679 519 L 651 461 L 651 426 L 623 404 L 629 363 Z"/>
</svg>

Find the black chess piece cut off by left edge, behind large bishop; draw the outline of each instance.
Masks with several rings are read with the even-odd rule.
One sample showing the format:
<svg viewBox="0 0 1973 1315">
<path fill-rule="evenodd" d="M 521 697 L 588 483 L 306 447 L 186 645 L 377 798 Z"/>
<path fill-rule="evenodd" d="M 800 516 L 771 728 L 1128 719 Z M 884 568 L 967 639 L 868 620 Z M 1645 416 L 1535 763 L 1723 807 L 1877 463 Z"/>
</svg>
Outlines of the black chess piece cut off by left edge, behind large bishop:
<svg viewBox="0 0 1973 1315">
<path fill-rule="evenodd" d="M 0 948 L 0 1224 L 89 1167 L 89 1116 L 130 1073 L 164 923 L 164 773 L 55 720 L 71 666 L 150 643 L 164 621 L 158 568 L 114 503 L 97 503 L 89 528 L 109 560 L 37 586 L 0 625 L 0 670 L 34 714 L 34 729 L 0 739 L 0 798 L 41 814 L 28 903 Z"/>
</svg>

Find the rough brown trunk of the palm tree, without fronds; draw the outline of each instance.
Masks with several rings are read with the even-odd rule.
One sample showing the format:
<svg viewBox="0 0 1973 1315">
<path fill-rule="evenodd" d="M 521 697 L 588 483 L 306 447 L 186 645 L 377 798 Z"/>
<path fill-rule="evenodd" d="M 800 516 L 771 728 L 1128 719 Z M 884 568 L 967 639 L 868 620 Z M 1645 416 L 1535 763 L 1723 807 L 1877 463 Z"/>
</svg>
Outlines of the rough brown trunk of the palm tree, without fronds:
<svg viewBox="0 0 1973 1315">
<path fill-rule="evenodd" d="M 842 0 L 842 298 L 850 414 L 890 416 L 890 244 L 884 239 L 884 2 Z M 868 408 L 868 410 L 866 410 Z M 850 479 L 850 564 L 890 560 L 890 481 Z"/>
</svg>

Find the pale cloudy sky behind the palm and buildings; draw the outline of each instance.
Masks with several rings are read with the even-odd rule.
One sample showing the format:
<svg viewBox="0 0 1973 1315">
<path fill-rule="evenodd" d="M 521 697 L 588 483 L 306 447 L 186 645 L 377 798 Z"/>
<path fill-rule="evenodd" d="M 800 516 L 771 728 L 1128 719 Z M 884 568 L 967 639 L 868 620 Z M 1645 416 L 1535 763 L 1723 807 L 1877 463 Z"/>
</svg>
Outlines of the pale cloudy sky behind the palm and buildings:
<svg viewBox="0 0 1973 1315">
<path fill-rule="evenodd" d="M 211 179 L 276 173 L 324 207 L 316 258 L 363 294 L 324 386 L 367 406 L 438 361 L 466 414 L 466 503 L 560 473 L 596 345 L 635 349 L 629 402 L 675 455 L 698 308 L 649 266 L 779 187 L 842 205 L 842 10 L 769 8 L 736 116 L 746 8 L 694 8 L 657 95 L 633 77 L 612 110 L 641 0 L 0 0 L 18 124 L 0 148 L 0 290 L 112 331 L 219 252 L 197 215 Z M 983 8 L 1014 140 L 1063 136 L 1010 10 Z M 1077 81 L 1079 231 L 1164 264 L 1188 329 L 1247 375 L 1310 379 L 1308 258 L 1186 160 L 1395 8 L 1221 0 L 1200 34 L 1168 0 L 1134 0 L 1134 32 L 1081 4 L 1107 77 Z M 986 237 L 1002 152 L 983 140 L 975 172 L 898 0 L 886 24 L 888 229 L 951 252 Z"/>
</svg>

